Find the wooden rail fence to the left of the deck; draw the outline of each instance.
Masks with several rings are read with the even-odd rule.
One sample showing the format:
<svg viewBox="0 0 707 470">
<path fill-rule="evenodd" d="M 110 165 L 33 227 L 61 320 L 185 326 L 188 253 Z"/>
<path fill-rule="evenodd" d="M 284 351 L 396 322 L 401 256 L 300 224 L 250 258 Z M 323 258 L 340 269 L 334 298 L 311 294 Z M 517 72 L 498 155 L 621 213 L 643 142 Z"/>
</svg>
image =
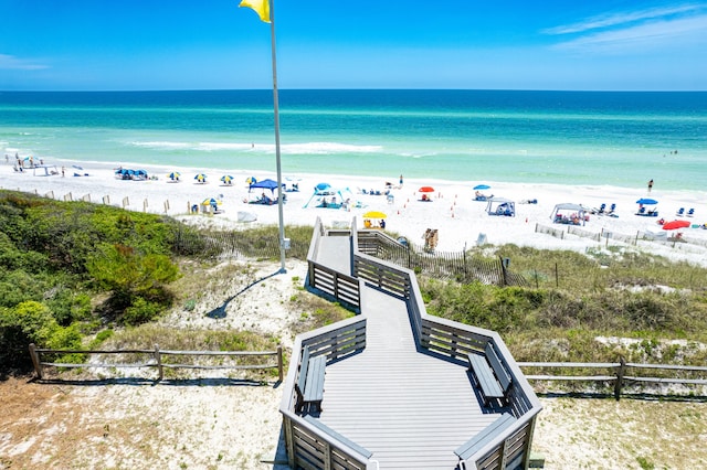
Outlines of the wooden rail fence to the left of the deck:
<svg viewBox="0 0 707 470">
<path fill-rule="evenodd" d="M 71 362 L 52 362 L 42 361 L 42 354 L 107 354 L 107 355 L 137 355 L 138 362 L 125 362 L 125 363 L 112 363 L 112 362 L 86 362 L 86 363 L 71 363 Z M 158 372 L 158 378 L 161 381 L 165 378 L 166 368 L 200 368 L 200 370 L 268 370 L 277 368 L 279 381 L 283 381 L 283 348 L 277 346 L 275 351 L 171 351 L 160 350 L 159 345 L 155 344 L 151 350 L 52 350 L 36 348 L 34 343 L 30 344 L 30 356 L 32 357 L 32 364 L 34 365 L 34 372 L 38 378 L 44 376 L 44 367 L 66 367 L 66 368 L 88 368 L 88 367 L 104 367 L 104 368 L 141 368 L 141 367 L 155 367 Z M 220 364 L 189 364 L 178 363 L 166 360 L 167 357 L 183 357 L 183 356 L 221 356 L 224 357 Z M 275 357 L 275 361 L 261 363 L 255 360 Z M 229 362 L 228 364 L 224 362 Z"/>
</svg>

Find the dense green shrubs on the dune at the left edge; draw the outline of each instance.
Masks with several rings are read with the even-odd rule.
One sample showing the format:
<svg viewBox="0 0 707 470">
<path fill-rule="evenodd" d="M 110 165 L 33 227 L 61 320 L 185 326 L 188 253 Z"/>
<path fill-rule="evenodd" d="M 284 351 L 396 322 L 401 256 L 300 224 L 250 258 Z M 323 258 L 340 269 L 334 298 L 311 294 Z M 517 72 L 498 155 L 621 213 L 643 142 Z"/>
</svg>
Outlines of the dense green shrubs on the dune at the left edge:
<svg viewBox="0 0 707 470">
<path fill-rule="evenodd" d="M 177 225 L 154 214 L 0 191 L 2 372 L 31 365 L 29 343 L 76 349 L 106 321 L 137 324 L 169 307 Z"/>
</svg>

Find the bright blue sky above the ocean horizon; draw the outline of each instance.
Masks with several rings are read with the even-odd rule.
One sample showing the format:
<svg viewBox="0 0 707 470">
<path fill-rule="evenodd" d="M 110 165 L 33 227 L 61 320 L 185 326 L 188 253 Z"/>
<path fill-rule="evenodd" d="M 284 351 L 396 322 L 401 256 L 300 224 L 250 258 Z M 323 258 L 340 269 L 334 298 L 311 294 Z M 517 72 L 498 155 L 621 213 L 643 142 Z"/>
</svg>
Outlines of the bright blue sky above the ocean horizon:
<svg viewBox="0 0 707 470">
<path fill-rule="evenodd" d="M 272 87 L 239 0 L 0 0 L 0 89 Z M 707 3 L 275 0 L 286 88 L 707 89 Z"/>
</svg>

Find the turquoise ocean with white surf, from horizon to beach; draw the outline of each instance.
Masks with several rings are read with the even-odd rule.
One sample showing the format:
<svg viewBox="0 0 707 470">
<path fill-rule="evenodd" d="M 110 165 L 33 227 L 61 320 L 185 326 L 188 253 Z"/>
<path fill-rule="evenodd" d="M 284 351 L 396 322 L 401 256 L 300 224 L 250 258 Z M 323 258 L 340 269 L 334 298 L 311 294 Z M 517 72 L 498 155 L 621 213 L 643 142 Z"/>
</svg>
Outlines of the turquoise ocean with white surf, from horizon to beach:
<svg viewBox="0 0 707 470">
<path fill-rule="evenodd" d="M 707 188 L 700 92 L 286 89 L 279 121 L 284 175 Z M 0 151 L 257 175 L 273 94 L 0 92 Z"/>
</svg>

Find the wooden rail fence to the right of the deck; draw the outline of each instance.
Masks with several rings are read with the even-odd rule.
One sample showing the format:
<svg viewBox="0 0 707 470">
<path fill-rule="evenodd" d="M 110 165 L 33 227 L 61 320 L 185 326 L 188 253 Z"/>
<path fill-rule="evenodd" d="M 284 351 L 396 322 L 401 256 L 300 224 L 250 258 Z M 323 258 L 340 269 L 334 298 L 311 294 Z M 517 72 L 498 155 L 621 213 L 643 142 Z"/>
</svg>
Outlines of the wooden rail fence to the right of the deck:
<svg viewBox="0 0 707 470">
<path fill-rule="evenodd" d="M 679 384 L 707 385 L 707 366 L 646 364 L 625 362 L 623 357 L 616 363 L 583 363 L 583 362 L 518 362 L 520 368 L 535 370 L 536 374 L 525 374 L 528 381 L 560 381 L 560 382 L 605 382 L 613 383 L 614 397 L 621 398 L 622 391 L 630 385 Z M 574 370 L 576 374 L 557 375 L 559 371 Z M 652 375 L 639 375 L 640 371 L 653 371 Z M 603 372 L 592 373 L 592 372 Z"/>
</svg>

